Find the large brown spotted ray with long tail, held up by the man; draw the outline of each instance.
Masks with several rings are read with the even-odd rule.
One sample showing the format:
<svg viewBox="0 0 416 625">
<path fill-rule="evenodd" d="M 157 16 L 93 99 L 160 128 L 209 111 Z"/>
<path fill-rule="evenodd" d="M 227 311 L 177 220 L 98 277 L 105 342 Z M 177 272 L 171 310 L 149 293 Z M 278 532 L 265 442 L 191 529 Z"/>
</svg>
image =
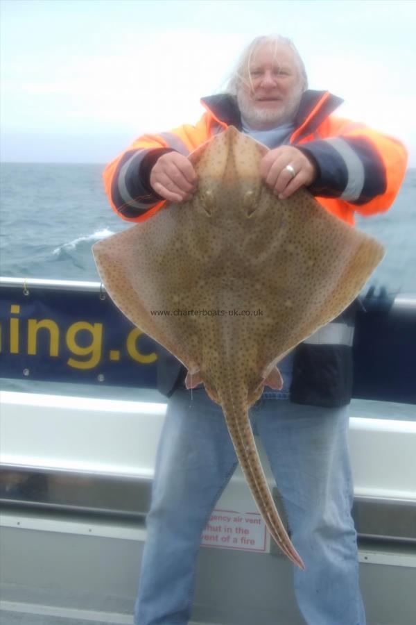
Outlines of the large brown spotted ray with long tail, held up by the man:
<svg viewBox="0 0 416 625">
<path fill-rule="evenodd" d="M 198 176 L 192 199 L 167 202 L 92 251 L 116 306 L 187 368 L 187 388 L 202 383 L 221 406 L 270 535 L 304 569 L 248 409 L 265 385 L 281 389 L 279 360 L 352 303 L 384 249 L 306 188 L 279 199 L 259 174 L 267 151 L 229 126 L 189 155 Z"/>
</svg>

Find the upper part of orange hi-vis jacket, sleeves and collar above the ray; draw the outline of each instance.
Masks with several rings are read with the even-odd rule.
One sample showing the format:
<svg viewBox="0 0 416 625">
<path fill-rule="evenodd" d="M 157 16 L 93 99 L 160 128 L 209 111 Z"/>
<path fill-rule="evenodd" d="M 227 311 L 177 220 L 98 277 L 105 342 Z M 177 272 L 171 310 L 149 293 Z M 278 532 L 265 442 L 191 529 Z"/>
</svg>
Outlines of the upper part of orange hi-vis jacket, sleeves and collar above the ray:
<svg viewBox="0 0 416 625">
<path fill-rule="evenodd" d="M 132 222 L 154 215 L 166 202 L 149 185 L 150 165 L 166 151 L 188 156 L 228 126 L 241 130 L 234 98 L 227 94 L 201 100 L 206 108 L 196 126 L 185 124 L 167 133 L 142 135 L 103 173 L 112 208 Z M 309 187 L 329 213 L 354 224 L 354 212 L 373 215 L 388 210 L 399 191 L 407 165 L 403 144 L 394 138 L 331 115 L 342 100 L 329 92 L 306 91 L 288 143 L 317 166 Z M 277 146 L 275 146 L 277 147 Z"/>
</svg>

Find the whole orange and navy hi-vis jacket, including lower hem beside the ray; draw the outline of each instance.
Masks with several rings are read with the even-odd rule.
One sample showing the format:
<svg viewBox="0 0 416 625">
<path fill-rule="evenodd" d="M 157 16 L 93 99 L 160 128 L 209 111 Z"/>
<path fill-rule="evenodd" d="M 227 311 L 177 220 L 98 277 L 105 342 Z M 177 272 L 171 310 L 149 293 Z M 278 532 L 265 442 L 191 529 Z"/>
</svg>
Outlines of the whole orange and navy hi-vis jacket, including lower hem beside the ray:
<svg viewBox="0 0 416 625">
<path fill-rule="evenodd" d="M 268 146 L 291 144 L 316 166 L 309 190 L 330 213 L 354 224 L 354 212 L 372 215 L 390 208 L 404 178 L 407 154 L 403 145 L 364 124 L 332 115 L 342 102 L 329 92 L 306 91 L 286 138 L 268 135 Z M 196 126 L 168 133 L 143 135 L 107 165 L 105 189 L 112 207 L 123 219 L 141 222 L 165 201 L 150 187 L 150 171 L 157 158 L 176 150 L 187 156 L 228 126 L 242 129 L 234 98 L 226 94 L 202 99 L 207 112 Z M 270 139 L 270 141 L 269 141 Z M 277 144 L 274 145 L 273 143 Z M 352 396 L 354 335 L 353 303 L 340 317 L 299 344 L 293 353 L 290 401 L 310 406 L 345 406 Z M 184 366 L 159 344 L 157 388 L 170 397 L 184 385 Z"/>
</svg>

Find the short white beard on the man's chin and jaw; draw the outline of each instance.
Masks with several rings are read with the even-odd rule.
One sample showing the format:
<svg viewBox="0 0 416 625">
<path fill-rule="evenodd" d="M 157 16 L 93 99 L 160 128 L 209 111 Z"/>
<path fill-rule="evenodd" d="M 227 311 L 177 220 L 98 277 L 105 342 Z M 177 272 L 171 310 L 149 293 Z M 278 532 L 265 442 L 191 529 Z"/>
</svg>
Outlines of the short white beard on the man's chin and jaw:
<svg viewBox="0 0 416 625">
<path fill-rule="evenodd" d="M 298 88 L 284 108 L 272 110 L 269 107 L 261 108 L 259 105 L 254 108 L 250 96 L 241 88 L 237 92 L 237 103 L 241 116 L 249 126 L 256 130 L 268 130 L 268 128 L 276 128 L 292 122 L 299 108 L 301 97 L 302 90 Z"/>
</svg>

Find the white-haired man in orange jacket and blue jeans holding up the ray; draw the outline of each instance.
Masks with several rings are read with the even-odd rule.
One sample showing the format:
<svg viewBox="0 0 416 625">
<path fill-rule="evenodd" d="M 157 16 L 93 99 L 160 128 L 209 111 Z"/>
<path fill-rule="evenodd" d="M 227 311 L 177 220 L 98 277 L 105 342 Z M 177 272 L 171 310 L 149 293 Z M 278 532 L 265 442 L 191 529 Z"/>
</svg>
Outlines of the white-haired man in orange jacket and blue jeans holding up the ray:
<svg viewBox="0 0 416 625">
<path fill-rule="evenodd" d="M 306 88 L 293 44 L 279 36 L 257 38 L 243 52 L 227 92 L 202 99 L 207 111 L 196 126 L 144 135 L 107 166 L 114 210 L 140 222 L 166 200 L 189 199 L 198 180 L 187 155 L 229 125 L 270 148 L 260 173 L 279 198 L 304 185 L 351 225 L 355 212 L 388 210 L 404 177 L 404 147 L 335 117 L 341 100 Z M 265 390 L 250 411 L 306 565 L 294 576 L 309 625 L 365 624 L 347 450 L 353 308 L 288 354 L 279 363 L 283 391 Z M 201 533 L 237 464 L 220 407 L 202 387 L 191 401 L 185 374 L 159 349 L 159 390 L 169 399 L 146 519 L 136 625 L 188 622 Z"/>
</svg>

